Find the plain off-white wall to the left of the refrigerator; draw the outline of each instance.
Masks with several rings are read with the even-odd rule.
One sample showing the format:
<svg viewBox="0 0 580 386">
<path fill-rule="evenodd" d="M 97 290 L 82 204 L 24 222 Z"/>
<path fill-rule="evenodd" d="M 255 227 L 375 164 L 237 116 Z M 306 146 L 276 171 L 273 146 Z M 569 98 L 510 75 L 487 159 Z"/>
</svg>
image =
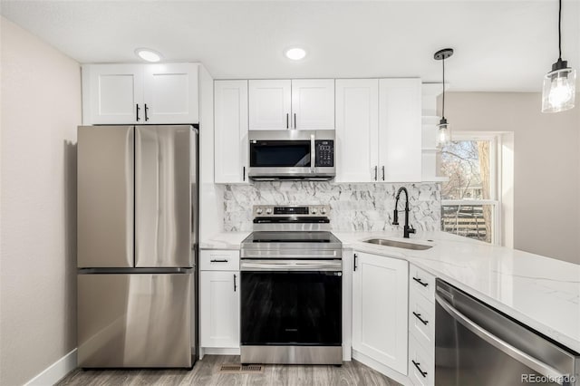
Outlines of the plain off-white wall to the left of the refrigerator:
<svg viewBox="0 0 580 386">
<path fill-rule="evenodd" d="M 0 384 L 22 384 L 76 347 L 79 63 L 4 17 Z"/>
</svg>

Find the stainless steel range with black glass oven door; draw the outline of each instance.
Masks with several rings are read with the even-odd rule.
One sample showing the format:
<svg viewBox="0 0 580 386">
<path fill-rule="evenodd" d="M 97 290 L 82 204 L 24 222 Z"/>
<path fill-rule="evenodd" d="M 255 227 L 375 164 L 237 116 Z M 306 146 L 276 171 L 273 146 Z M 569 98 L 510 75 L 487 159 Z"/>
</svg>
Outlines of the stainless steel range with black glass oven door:
<svg viewBox="0 0 580 386">
<path fill-rule="evenodd" d="M 241 362 L 341 364 L 343 246 L 328 206 L 255 206 L 241 250 Z"/>
</svg>

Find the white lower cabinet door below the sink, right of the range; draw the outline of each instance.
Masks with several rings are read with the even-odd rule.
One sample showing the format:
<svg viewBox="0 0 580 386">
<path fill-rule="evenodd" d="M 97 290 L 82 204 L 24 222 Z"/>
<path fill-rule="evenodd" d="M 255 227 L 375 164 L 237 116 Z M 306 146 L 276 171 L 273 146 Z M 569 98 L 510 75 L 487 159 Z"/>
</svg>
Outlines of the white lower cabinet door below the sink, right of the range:
<svg viewBox="0 0 580 386">
<path fill-rule="evenodd" d="M 353 349 L 407 374 L 408 263 L 355 252 Z"/>
</svg>

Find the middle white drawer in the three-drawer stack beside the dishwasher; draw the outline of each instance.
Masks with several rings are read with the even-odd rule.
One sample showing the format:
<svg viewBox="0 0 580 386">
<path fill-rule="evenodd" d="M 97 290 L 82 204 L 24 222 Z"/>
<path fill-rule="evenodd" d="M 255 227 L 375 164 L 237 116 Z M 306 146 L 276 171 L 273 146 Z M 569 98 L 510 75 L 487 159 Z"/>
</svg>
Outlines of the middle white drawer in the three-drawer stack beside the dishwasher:
<svg viewBox="0 0 580 386">
<path fill-rule="evenodd" d="M 418 291 L 409 295 L 409 332 L 418 343 L 429 349 L 433 356 L 435 347 L 435 304 L 430 303 Z"/>
</svg>

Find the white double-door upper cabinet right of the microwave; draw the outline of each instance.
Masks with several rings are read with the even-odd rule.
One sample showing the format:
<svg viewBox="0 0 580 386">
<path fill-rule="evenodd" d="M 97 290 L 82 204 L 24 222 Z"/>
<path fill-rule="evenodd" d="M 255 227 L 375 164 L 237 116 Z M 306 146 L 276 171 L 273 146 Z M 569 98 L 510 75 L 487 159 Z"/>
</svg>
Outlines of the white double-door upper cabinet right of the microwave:
<svg viewBox="0 0 580 386">
<path fill-rule="evenodd" d="M 420 107 L 420 79 L 337 79 L 336 181 L 420 181 Z"/>
</svg>

